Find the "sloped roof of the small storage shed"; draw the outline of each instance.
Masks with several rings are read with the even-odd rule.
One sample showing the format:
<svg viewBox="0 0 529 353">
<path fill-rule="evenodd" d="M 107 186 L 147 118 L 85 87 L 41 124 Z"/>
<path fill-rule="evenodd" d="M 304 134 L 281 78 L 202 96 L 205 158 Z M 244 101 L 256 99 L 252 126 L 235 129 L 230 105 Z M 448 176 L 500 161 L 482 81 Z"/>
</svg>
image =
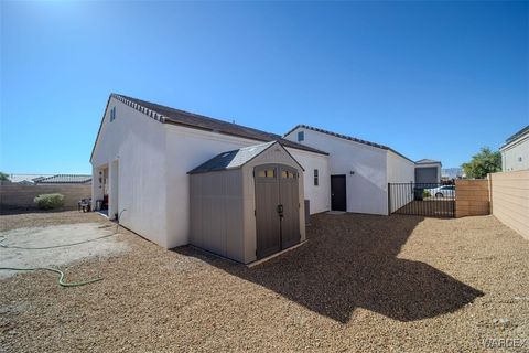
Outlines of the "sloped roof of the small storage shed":
<svg viewBox="0 0 529 353">
<path fill-rule="evenodd" d="M 240 168 L 248 163 L 250 160 L 252 160 L 255 157 L 266 151 L 276 141 L 259 143 L 255 146 L 244 147 L 238 150 L 219 153 L 210 160 L 188 171 L 187 174 L 197 174 L 218 170 Z"/>
</svg>

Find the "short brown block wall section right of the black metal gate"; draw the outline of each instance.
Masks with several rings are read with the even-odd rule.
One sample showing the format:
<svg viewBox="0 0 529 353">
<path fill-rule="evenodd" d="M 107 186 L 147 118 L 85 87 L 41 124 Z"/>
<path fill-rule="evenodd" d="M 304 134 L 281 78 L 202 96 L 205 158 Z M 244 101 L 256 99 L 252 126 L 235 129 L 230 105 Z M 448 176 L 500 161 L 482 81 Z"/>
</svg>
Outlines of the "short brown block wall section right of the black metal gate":
<svg viewBox="0 0 529 353">
<path fill-rule="evenodd" d="M 487 179 L 455 181 L 455 216 L 478 216 L 490 214 Z"/>
</svg>

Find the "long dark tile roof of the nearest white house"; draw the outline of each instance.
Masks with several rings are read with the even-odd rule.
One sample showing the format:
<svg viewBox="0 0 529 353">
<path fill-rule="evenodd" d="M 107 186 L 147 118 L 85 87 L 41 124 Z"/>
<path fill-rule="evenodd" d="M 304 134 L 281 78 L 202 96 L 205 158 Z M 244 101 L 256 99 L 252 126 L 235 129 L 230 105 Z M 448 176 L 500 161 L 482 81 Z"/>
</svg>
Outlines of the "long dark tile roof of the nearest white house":
<svg viewBox="0 0 529 353">
<path fill-rule="evenodd" d="M 290 147 L 298 150 L 304 150 L 309 152 L 328 156 L 327 152 L 323 152 L 309 146 L 289 141 L 287 139 L 283 139 L 279 135 L 252 129 L 252 128 L 237 125 L 234 122 L 214 119 L 203 115 L 180 110 L 180 109 L 162 106 L 155 103 L 150 103 L 150 101 L 145 101 L 145 100 L 141 100 L 141 99 L 137 99 L 137 98 L 132 98 L 132 97 L 128 97 L 119 94 L 111 94 L 109 97 L 109 101 L 110 101 L 110 98 L 116 98 L 117 100 L 134 108 L 136 110 L 162 124 L 173 124 L 173 125 L 184 126 L 192 129 L 199 129 L 199 130 L 213 131 L 222 135 L 236 136 L 236 137 L 241 137 L 241 138 L 246 138 L 255 141 L 260 141 L 260 142 L 279 141 L 284 147 Z M 108 103 L 107 103 L 107 107 L 108 107 Z M 101 120 L 101 126 L 102 126 L 102 120 Z M 101 130 L 101 126 L 99 127 L 99 131 L 97 133 L 98 138 L 99 138 L 99 132 Z M 96 143 L 97 143 L 97 138 L 96 138 Z M 96 146 L 94 145 L 91 154 L 94 154 L 95 148 Z"/>
</svg>

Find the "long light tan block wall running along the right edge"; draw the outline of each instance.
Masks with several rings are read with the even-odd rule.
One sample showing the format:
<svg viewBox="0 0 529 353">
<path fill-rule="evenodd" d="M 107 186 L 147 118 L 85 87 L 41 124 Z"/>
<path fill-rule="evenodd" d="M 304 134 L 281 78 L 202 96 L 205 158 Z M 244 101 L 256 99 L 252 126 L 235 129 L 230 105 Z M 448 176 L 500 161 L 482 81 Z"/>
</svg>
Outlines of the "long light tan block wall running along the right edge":
<svg viewBox="0 0 529 353">
<path fill-rule="evenodd" d="M 529 170 L 488 174 L 492 212 L 529 239 Z"/>
</svg>

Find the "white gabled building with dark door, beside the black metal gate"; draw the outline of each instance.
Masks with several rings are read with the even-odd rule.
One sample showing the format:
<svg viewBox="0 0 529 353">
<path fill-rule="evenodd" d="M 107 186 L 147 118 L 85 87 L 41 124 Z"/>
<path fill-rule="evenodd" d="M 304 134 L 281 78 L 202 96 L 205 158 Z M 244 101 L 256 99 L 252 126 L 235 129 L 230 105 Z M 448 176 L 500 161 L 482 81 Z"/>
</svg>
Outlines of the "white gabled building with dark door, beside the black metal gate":
<svg viewBox="0 0 529 353">
<path fill-rule="evenodd" d="M 414 181 L 414 162 L 384 145 L 306 125 L 284 138 L 330 153 L 331 210 L 387 215 L 388 183 Z"/>
</svg>

